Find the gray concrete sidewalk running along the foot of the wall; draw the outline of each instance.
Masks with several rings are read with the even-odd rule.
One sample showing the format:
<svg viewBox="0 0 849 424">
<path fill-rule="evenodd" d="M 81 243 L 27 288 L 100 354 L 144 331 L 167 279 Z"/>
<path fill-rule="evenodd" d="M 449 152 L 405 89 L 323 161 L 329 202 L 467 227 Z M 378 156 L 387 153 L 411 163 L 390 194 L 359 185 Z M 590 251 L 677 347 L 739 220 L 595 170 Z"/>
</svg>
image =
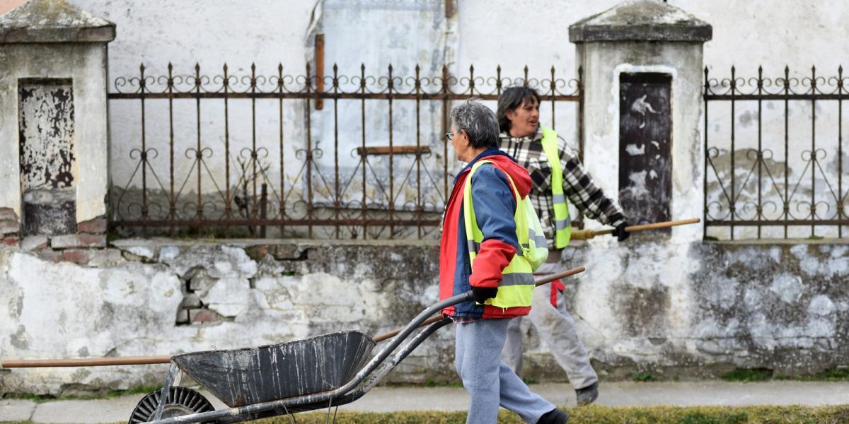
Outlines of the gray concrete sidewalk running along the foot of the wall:
<svg viewBox="0 0 849 424">
<path fill-rule="evenodd" d="M 531 390 L 555 404 L 575 405 L 567 384 L 533 384 Z M 849 382 L 603 382 L 597 404 L 649 405 L 790 405 L 849 404 Z M 224 404 L 204 393 L 216 410 Z M 112 399 L 31 400 L 0 399 L 0 422 L 38 423 L 127 422 L 143 394 Z M 465 410 L 463 388 L 374 388 L 363 399 L 340 410 L 389 412 L 397 410 Z"/>
</svg>

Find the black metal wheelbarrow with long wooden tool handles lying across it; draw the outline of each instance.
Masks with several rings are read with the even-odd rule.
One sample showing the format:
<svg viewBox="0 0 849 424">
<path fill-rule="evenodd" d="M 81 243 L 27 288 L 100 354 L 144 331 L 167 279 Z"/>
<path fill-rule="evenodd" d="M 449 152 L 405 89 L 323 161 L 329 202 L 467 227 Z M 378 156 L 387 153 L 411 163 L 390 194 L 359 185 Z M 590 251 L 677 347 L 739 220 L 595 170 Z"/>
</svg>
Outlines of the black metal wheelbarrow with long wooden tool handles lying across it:
<svg viewBox="0 0 849 424">
<path fill-rule="evenodd" d="M 573 276 L 583 267 L 537 281 L 537 286 Z M 148 393 L 132 411 L 129 424 L 150 422 L 239 422 L 271 416 L 290 416 L 309 410 L 331 411 L 361 397 L 413 352 L 424 339 L 451 322 L 442 309 L 470 300 L 471 291 L 425 308 L 407 326 L 371 338 L 363 332 L 323 334 L 256 348 L 208 350 L 170 357 L 162 388 Z M 392 338 L 368 360 L 377 343 Z M 400 347 L 400 349 L 399 349 Z M 397 351 L 396 351 L 397 350 Z M 167 359 L 167 357 L 163 357 Z M 154 359 L 154 360 L 151 360 Z M 92 360 L 9 360 L 5 367 L 80 366 L 161 363 L 160 357 L 98 358 Z M 214 410 L 200 393 L 178 386 L 186 374 L 228 405 Z M 163 396 L 162 393 L 167 393 Z M 335 419 L 335 414 L 334 414 Z"/>
</svg>

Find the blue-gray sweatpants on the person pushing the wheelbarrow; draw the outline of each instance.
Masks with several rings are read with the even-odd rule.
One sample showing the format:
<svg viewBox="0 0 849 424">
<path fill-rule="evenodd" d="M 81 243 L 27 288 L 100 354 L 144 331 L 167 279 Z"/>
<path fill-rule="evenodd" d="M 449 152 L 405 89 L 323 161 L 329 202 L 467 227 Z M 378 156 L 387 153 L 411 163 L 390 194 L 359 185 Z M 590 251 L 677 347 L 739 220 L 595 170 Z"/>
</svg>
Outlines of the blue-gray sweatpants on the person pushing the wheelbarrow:
<svg viewBox="0 0 849 424">
<path fill-rule="evenodd" d="M 454 365 L 469 392 L 466 424 L 498 421 L 498 406 L 519 414 L 522 421 L 535 423 L 554 404 L 532 393 L 525 382 L 501 361 L 509 319 L 458 323 Z"/>
</svg>

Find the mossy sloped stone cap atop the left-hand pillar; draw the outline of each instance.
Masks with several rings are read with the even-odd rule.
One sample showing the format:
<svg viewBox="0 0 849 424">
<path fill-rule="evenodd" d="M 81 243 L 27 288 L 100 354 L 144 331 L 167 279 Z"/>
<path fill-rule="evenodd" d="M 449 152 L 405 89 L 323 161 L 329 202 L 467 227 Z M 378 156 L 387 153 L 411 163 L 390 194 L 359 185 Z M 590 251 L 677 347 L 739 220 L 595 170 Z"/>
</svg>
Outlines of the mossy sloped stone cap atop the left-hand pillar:
<svg viewBox="0 0 849 424">
<path fill-rule="evenodd" d="M 115 24 L 65 0 L 29 0 L 0 15 L 0 44 L 112 40 Z"/>
</svg>

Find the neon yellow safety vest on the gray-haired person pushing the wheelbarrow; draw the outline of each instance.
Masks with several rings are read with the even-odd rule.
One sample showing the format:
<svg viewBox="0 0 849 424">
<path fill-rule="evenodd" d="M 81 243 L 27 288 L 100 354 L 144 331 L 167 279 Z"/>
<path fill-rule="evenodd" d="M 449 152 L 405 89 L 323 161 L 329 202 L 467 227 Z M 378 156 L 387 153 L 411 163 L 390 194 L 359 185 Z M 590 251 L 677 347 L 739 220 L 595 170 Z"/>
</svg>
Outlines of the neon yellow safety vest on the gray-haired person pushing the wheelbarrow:
<svg viewBox="0 0 849 424">
<path fill-rule="evenodd" d="M 483 242 L 483 233 L 481 232 L 481 228 L 477 225 L 475 206 L 472 204 L 472 175 L 475 174 L 475 170 L 486 163 L 496 166 L 491 160 L 480 160 L 476 162 L 475 165 L 472 165 L 472 169 L 469 170 L 469 176 L 466 177 L 466 185 L 463 189 L 463 220 L 466 229 L 466 243 L 469 246 L 469 259 L 472 265 L 472 273 L 475 272 L 475 258 L 477 258 L 478 251 L 480 250 L 481 243 Z M 507 175 L 506 172 L 504 174 Z M 507 178 L 510 182 L 511 188 L 513 188 L 513 193 L 516 198 L 516 209 L 518 210 L 518 204 L 521 196 L 513 183 L 513 179 L 510 178 L 509 175 L 507 175 Z M 517 227 L 518 219 L 519 217 L 514 215 L 514 220 L 517 220 Z M 523 236 L 517 232 L 516 237 L 518 238 L 519 243 L 528 243 L 527 234 Z M 492 304 L 492 306 L 497 306 L 498 308 L 531 306 L 534 287 L 533 271 L 531 271 L 531 265 L 528 263 L 527 259 L 522 256 L 521 249 L 516 250 L 517 251 L 516 254 L 513 255 L 513 259 L 510 260 L 510 263 L 501 272 L 503 277 L 501 282 L 498 282 L 498 293 L 495 298 L 486 299 L 485 304 Z"/>
</svg>

